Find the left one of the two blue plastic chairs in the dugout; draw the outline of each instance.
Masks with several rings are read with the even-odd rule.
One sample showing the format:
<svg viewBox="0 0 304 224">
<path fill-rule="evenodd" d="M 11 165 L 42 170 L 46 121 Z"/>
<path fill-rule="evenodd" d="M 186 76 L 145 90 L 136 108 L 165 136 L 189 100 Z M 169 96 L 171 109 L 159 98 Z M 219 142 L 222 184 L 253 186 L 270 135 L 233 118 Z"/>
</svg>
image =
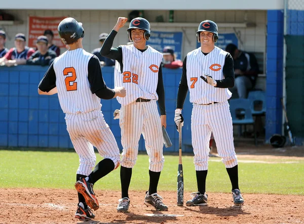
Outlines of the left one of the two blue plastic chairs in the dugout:
<svg viewBox="0 0 304 224">
<path fill-rule="evenodd" d="M 230 104 L 230 112 L 232 116 L 232 123 L 234 125 L 247 125 L 247 124 L 253 125 L 254 141 L 255 141 L 255 145 L 257 146 L 255 122 L 252 117 L 252 111 L 251 111 L 252 101 L 250 99 L 232 99 L 230 100 L 229 104 Z"/>
</svg>

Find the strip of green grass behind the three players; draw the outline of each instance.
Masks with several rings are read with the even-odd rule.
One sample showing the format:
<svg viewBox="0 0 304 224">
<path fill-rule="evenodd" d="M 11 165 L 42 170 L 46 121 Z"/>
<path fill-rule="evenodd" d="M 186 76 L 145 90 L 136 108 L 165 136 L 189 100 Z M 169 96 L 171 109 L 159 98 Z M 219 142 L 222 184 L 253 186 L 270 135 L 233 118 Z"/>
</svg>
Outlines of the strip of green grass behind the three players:
<svg viewBox="0 0 304 224">
<path fill-rule="evenodd" d="M 75 152 L 0 150 L 0 158 L 0 188 L 73 189 L 79 165 Z M 97 161 L 101 159 L 97 154 Z M 177 163 L 178 156 L 165 155 L 159 191 L 176 191 Z M 94 188 L 120 191 L 119 170 L 103 177 Z M 183 171 L 184 190 L 197 191 L 193 156 L 183 156 Z M 289 164 L 239 162 L 239 183 L 244 193 L 304 195 L 303 173 L 303 160 Z M 130 190 L 147 190 L 148 180 L 148 156 L 138 155 Z M 207 191 L 230 192 L 230 188 L 229 176 L 223 163 L 209 161 Z"/>
</svg>

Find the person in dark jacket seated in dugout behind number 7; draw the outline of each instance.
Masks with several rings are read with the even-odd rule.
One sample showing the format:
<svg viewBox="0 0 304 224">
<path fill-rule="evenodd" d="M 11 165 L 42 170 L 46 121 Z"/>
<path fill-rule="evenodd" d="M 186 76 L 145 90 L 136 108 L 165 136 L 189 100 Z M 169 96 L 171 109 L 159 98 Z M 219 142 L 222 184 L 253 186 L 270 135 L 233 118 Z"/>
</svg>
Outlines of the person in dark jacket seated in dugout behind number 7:
<svg viewBox="0 0 304 224">
<path fill-rule="evenodd" d="M 230 91 L 237 92 L 239 98 L 247 98 L 259 72 L 256 58 L 253 54 L 239 50 L 233 43 L 228 44 L 225 51 L 230 53 L 234 60 L 235 85 Z"/>
</svg>

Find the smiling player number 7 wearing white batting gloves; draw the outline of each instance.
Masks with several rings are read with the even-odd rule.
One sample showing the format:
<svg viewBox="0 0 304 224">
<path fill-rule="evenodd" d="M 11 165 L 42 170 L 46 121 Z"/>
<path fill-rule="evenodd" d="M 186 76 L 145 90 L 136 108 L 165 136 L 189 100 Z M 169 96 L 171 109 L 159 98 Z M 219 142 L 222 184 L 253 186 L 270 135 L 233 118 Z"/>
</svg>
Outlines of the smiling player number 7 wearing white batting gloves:
<svg viewBox="0 0 304 224">
<path fill-rule="evenodd" d="M 192 193 L 193 198 L 186 205 L 207 205 L 206 177 L 211 132 L 232 183 L 234 204 L 242 205 L 244 200 L 239 190 L 238 160 L 227 102 L 232 95 L 228 88 L 234 86 L 233 59 L 229 53 L 214 46 L 218 29 L 213 21 L 200 23 L 197 38 L 201 47 L 189 52 L 183 61 L 174 118 L 177 126 L 183 124 L 181 110 L 189 89 L 190 102 L 193 103 L 191 131 L 198 192 Z"/>
</svg>

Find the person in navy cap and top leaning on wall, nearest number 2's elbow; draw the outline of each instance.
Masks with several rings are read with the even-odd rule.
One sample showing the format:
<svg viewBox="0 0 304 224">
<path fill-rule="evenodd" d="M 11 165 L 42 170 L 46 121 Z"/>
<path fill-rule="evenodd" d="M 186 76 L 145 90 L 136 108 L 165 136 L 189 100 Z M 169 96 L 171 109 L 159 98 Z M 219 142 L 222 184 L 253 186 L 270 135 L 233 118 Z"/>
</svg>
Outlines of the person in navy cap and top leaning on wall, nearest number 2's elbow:
<svg viewBox="0 0 304 224">
<path fill-rule="evenodd" d="M 56 53 L 48 48 L 48 37 L 46 36 L 37 38 L 36 47 L 38 50 L 26 61 L 27 65 L 50 65 L 53 62 L 52 59 L 57 57 Z"/>
</svg>

